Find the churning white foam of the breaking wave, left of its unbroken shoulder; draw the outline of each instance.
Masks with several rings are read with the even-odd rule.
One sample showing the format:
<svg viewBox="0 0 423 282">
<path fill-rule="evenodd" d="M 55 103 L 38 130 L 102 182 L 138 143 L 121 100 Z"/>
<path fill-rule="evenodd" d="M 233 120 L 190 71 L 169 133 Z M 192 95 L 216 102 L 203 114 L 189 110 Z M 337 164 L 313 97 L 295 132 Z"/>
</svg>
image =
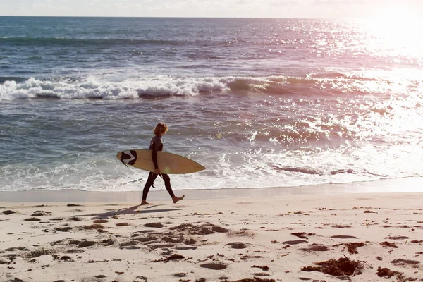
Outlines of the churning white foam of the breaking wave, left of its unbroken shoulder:
<svg viewBox="0 0 423 282">
<path fill-rule="evenodd" d="M 272 83 L 284 83 L 281 76 L 173 78 L 155 76 L 118 82 L 102 81 L 90 76 L 75 82 L 71 80 L 37 80 L 30 78 L 22 83 L 6 81 L 0 85 L 0 100 L 55 97 L 60 99 L 137 99 L 143 96 L 195 96 L 202 92 L 226 90 L 263 91 Z"/>
</svg>

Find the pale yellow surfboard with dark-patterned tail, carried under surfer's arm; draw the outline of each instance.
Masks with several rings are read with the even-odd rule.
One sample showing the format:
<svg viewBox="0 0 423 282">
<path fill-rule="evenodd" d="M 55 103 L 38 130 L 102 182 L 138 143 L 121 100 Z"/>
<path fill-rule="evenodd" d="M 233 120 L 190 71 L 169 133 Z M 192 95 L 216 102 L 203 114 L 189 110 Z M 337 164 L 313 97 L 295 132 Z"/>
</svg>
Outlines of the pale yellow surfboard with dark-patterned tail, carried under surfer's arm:
<svg viewBox="0 0 423 282">
<path fill-rule="evenodd" d="M 152 150 L 150 149 L 132 149 L 118 152 L 116 157 L 127 166 L 154 172 Z M 192 159 L 180 156 L 179 154 L 163 151 L 157 152 L 157 164 L 159 165 L 160 172 L 166 174 L 185 174 L 206 169 L 201 164 L 198 164 L 197 161 L 192 161 Z"/>
</svg>

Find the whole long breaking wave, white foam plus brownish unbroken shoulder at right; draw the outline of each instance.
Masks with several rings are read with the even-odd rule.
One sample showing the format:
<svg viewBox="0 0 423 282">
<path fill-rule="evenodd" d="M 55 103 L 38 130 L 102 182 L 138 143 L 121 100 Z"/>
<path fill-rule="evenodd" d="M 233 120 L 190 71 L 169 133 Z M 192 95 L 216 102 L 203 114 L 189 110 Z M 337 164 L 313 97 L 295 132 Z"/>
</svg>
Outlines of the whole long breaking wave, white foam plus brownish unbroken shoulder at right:
<svg viewBox="0 0 423 282">
<path fill-rule="evenodd" d="M 36 78 L 0 77 L 0 100 L 14 99 L 137 99 L 168 96 L 195 96 L 205 92 L 258 92 L 266 94 L 309 94 L 327 85 L 352 85 L 354 79 L 295 78 L 283 75 L 268 77 L 177 78 L 157 76 L 122 81 L 104 81 L 95 76 L 75 79 L 39 80 Z M 346 86 L 345 86 L 346 87 Z M 336 91 L 329 92 L 336 94 Z"/>
</svg>

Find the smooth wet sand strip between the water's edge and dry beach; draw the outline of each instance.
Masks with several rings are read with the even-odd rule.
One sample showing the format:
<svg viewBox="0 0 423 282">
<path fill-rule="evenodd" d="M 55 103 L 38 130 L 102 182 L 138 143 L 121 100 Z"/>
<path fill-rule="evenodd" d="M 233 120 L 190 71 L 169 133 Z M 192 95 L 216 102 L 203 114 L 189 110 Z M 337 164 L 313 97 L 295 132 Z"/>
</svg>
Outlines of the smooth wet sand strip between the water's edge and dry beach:
<svg viewBox="0 0 423 282">
<path fill-rule="evenodd" d="M 355 183 L 318 184 L 272 188 L 222 188 L 174 190 L 185 200 L 242 197 L 279 197 L 289 195 L 347 195 L 363 193 L 423 192 L 423 178 L 396 178 Z M 101 192 L 82 190 L 0 191 L 0 203 L 6 202 L 140 202 L 142 190 Z M 150 190 L 149 201 L 169 200 L 166 190 Z M 185 201 L 184 200 L 184 201 Z"/>
</svg>

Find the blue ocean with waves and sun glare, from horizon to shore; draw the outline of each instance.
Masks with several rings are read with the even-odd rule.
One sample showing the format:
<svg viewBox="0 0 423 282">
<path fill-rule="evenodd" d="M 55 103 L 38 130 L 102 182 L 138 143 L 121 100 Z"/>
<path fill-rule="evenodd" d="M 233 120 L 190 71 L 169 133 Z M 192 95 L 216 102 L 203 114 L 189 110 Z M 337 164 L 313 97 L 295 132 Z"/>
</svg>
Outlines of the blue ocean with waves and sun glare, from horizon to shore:
<svg viewBox="0 0 423 282">
<path fill-rule="evenodd" d="M 174 190 L 422 177 L 421 24 L 0 17 L 0 190 L 142 190 L 159 121 Z"/>
</svg>

